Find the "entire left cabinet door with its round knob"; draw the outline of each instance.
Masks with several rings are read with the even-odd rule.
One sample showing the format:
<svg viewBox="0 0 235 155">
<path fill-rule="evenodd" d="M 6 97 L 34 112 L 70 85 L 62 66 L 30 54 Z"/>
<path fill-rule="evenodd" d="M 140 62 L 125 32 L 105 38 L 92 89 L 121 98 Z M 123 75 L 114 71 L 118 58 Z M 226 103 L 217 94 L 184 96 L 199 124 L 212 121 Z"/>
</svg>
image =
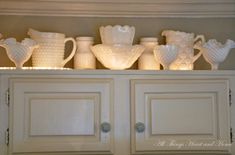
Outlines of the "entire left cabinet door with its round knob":
<svg viewBox="0 0 235 155">
<path fill-rule="evenodd" d="M 12 154 L 113 153 L 111 79 L 10 79 L 10 102 Z"/>
</svg>

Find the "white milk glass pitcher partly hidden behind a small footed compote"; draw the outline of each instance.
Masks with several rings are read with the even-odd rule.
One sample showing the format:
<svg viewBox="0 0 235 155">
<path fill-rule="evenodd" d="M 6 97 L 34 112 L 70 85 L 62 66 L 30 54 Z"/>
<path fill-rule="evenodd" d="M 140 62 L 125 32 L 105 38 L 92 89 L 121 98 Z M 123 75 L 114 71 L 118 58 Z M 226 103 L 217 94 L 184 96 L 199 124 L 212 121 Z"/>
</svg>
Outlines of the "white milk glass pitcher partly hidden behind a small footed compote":
<svg viewBox="0 0 235 155">
<path fill-rule="evenodd" d="M 173 30 L 165 30 L 162 36 L 166 37 L 168 45 L 176 45 L 179 48 L 179 53 L 176 60 L 170 65 L 171 70 L 193 70 L 193 63 L 201 56 L 199 51 L 194 55 L 194 46 L 198 41 L 205 42 L 203 35 L 195 35 L 193 33 L 186 33 Z"/>
</svg>

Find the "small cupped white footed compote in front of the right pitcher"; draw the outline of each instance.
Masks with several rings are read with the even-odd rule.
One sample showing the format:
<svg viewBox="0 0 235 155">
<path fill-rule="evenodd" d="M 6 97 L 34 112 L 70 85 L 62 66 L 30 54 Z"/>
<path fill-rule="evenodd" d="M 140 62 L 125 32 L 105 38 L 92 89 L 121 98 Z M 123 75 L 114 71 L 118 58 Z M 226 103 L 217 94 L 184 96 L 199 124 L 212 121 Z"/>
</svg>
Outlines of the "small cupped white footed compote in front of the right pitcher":
<svg viewBox="0 0 235 155">
<path fill-rule="evenodd" d="M 175 45 L 159 45 L 153 50 L 155 59 L 162 64 L 164 70 L 170 69 L 170 64 L 177 58 L 178 51 Z"/>
</svg>

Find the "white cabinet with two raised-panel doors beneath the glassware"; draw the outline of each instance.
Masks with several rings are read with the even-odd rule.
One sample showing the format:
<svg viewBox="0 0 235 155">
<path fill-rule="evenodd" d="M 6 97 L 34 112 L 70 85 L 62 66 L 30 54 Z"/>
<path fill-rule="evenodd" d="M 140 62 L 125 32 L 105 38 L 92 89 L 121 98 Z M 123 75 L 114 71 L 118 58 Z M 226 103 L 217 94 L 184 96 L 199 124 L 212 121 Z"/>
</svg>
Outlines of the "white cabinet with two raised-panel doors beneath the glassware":
<svg viewBox="0 0 235 155">
<path fill-rule="evenodd" d="M 8 149 L 0 155 L 230 152 L 233 71 L 22 70 L 0 77 L 0 133 L 10 130 L 9 146 L 0 134 L 0 148 Z"/>
</svg>

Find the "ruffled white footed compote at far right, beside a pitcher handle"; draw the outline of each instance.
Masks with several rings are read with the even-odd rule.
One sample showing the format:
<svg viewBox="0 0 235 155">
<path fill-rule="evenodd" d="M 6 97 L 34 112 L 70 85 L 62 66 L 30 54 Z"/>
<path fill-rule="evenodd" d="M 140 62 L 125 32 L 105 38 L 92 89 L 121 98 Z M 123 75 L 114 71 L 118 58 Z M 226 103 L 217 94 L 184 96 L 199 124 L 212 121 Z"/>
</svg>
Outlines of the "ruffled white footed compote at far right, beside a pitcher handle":
<svg viewBox="0 0 235 155">
<path fill-rule="evenodd" d="M 211 39 L 202 46 L 202 55 L 211 64 L 212 70 L 216 70 L 219 64 L 226 59 L 231 48 L 235 48 L 235 42 L 232 40 L 228 39 L 223 45 L 215 39 Z"/>
</svg>

